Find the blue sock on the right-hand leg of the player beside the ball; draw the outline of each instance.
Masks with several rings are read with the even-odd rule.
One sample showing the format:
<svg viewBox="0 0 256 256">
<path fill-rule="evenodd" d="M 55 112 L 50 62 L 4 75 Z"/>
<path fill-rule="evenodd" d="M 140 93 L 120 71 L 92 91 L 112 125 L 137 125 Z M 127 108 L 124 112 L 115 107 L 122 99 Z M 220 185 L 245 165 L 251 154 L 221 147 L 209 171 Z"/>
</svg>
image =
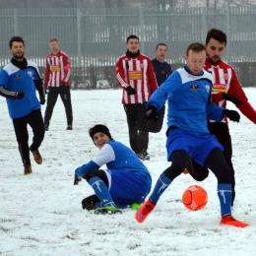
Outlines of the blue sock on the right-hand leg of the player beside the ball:
<svg viewBox="0 0 256 256">
<path fill-rule="evenodd" d="M 218 184 L 217 192 L 221 204 L 222 217 L 231 214 L 232 190 L 231 184 Z"/>
</svg>

